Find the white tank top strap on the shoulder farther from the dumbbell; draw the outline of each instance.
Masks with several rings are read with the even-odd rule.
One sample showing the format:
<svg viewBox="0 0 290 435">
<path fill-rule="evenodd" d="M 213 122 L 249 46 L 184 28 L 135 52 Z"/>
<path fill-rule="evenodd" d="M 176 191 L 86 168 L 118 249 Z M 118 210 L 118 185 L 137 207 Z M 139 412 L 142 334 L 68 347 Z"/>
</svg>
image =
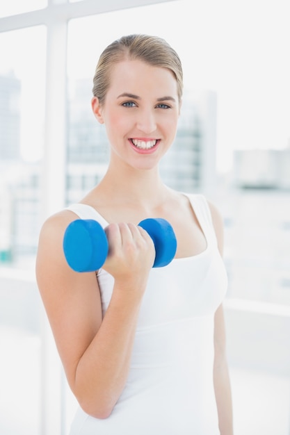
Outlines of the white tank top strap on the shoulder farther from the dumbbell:
<svg viewBox="0 0 290 435">
<path fill-rule="evenodd" d="M 208 245 L 216 246 L 217 238 L 216 231 L 214 230 L 214 224 L 211 218 L 211 211 L 209 204 L 204 195 L 200 194 L 185 194 L 191 202 L 191 206 L 195 213 L 196 218 L 200 224 L 200 227 L 207 239 Z"/>
</svg>

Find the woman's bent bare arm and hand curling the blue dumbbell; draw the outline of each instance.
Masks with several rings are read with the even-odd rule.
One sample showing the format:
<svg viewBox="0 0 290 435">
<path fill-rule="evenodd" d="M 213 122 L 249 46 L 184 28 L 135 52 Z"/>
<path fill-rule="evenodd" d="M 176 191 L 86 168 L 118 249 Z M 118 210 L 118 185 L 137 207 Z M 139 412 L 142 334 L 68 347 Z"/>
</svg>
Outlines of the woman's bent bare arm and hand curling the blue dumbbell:
<svg viewBox="0 0 290 435">
<path fill-rule="evenodd" d="M 110 251 L 103 267 L 113 274 L 115 284 L 103 319 L 95 272 L 74 272 L 65 261 L 63 234 L 74 218 L 64 211 L 43 225 L 36 277 L 70 388 L 86 413 L 106 418 L 127 379 L 154 248 L 139 227 L 108 227 Z"/>
</svg>

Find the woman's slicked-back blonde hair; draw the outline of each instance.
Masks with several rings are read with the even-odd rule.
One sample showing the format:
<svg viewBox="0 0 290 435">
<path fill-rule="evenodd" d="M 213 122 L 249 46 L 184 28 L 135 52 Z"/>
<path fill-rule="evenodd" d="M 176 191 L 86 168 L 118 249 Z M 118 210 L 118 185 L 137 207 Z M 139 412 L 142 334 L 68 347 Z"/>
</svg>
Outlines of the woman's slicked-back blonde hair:
<svg viewBox="0 0 290 435">
<path fill-rule="evenodd" d="M 156 36 L 127 35 L 112 42 L 99 57 L 95 69 L 92 93 L 104 104 L 110 85 L 111 67 L 122 60 L 142 60 L 155 67 L 168 68 L 177 81 L 179 101 L 182 99 L 183 72 L 182 63 L 170 44 Z"/>
</svg>

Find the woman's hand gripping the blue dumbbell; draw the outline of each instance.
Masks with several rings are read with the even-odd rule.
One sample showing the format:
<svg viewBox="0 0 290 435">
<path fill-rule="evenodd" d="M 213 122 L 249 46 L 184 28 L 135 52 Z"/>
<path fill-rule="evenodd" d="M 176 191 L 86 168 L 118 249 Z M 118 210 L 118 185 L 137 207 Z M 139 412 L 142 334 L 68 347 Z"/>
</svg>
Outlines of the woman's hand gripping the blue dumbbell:
<svg viewBox="0 0 290 435">
<path fill-rule="evenodd" d="M 134 224 L 109 224 L 108 256 L 103 269 L 110 273 L 119 286 L 143 288 L 155 259 L 152 238 L 145 229 Z"/>
</svg>

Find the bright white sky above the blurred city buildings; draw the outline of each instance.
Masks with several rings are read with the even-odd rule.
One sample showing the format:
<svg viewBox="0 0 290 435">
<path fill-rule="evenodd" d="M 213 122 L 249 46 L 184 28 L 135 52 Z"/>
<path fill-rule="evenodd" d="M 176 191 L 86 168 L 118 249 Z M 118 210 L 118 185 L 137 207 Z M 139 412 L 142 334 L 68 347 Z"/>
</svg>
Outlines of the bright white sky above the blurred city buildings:
<svg viewBox="0 0 290 435">
<path fill-rule="evenodd" d="M 216 92 L 217 163 L 226 172 L 233 149 L 290 145 L 288 18 L 289 0 L 179 0 L 74 19 L 67 74 L 70 80 L 92 77 L 102 49 L 123 34 L 165 38 L 182 58 L 185 92 Z M 22 79 L 22 153 L 28 160 L 39 156 L 45 43 L 44 26 L 0 34 L 0 73 L 13 69 Z"/>
</svg>

